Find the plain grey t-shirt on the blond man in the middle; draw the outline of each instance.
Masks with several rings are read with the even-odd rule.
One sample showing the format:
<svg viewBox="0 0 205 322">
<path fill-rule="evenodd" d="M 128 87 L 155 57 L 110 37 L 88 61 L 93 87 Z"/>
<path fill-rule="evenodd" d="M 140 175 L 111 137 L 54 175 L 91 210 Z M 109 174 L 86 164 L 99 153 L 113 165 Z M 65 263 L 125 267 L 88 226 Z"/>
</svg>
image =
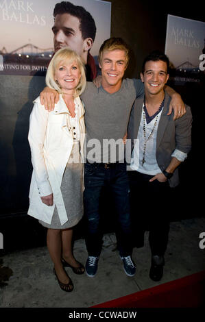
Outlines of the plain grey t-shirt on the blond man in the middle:
<svg viewBox="0 0 205 322">
<path fill-rule="evenodd" d="M 127 131 L 134 100 L 143 91 L 140 79 L 123 79 L 121 88 L 113 94 L 106 92 L 102 86 L 97 88 L 92 82 L 87 82 L 81 99 L 86 111 L 86 155 L 89 161 L 115 162 L 121 159 L 114 143 L 117 143 L 116 147 L 121 144 L 123 147 L 119 139 Z"/>
</svg>

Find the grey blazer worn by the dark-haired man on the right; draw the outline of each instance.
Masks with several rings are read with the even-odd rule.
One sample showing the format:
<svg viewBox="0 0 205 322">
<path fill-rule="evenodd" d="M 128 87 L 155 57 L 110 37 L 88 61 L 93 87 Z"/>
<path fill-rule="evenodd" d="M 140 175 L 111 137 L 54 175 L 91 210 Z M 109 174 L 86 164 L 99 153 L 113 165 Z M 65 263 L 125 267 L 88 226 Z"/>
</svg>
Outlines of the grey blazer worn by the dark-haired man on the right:
<svg viewBox="0 0 205 322">
<path fill-rule="evenodd" d="M 143 99 L 144 95 L 135 100 L 130 114 L 128 138 L 131 139 L 131 152 L 134 148 L 134 139 L 137 138 L 138 128 L 141 122 Z M 165 170 L 171 162 L 171 154 L 175 149 L 184 153 L 189 153 L 191 150 L 191 108 L 186 106 L 186 114 L 180 119 L 173 121 L 173 112 L 171 115 L 167 115 L 170 101 L 171 97 L 165 92 L 165 106 L 162 110 L 162 115 L 158 124 L 156 138 L 156 160 L 161 171 Z M 128 160 L 128 163 L 129 161 L 130 160 Z M 175 187 L 178 184 L 179 175 L 178 169 L 176 169 L 171 179 L 169 179 L 169 186 Z"/>
</svg>

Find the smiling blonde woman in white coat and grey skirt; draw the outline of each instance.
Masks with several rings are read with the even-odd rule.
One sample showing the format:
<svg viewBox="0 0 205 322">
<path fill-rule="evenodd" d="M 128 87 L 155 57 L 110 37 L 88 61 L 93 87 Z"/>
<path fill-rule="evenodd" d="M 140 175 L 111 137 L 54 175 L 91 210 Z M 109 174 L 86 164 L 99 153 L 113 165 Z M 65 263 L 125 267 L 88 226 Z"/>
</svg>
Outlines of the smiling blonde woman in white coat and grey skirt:
<svg viewBox="0 0 205 322">
<path fill-rule="evenodd" d="M 60 100 L 52 112 L 45 110 L 39 97 L 34 101 L 28 136 L 34 168 L 28 214 L 48 228 L 53 271 L 60 288 L 71 292 L 73 282 L 64 267 L 84 273 L 71 247 L 72 227 L 83 216 L 85 126 L 79 95 L 86 87 L 86 76 L 80 56 L 60 49 L 49 64 L 46 83 L 58 90 Z"/>
</svg>

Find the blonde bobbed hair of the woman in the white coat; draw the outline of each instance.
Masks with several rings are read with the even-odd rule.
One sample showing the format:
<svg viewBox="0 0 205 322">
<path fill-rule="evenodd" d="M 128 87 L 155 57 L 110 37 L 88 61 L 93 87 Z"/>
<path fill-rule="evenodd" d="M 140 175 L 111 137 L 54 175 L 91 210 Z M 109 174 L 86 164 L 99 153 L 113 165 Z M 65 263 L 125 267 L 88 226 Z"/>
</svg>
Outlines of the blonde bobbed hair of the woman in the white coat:
<svg viewBox="0 0 205 322">
<path fill-rule="evenodd" d="M 62 94 L 62 89 L 60 88 L 60 86 L 58 85 L 58 83 L 55 81 L 55 78 L 54 78 L 56 69 L 58 68 L 62 60 L 65 60 L 69 64 L 71 64 L 72 62 L 75 62 L 80 69 L 80 73 L 81 73 L 80 82 L 79 84 L 77 84 L 75 88 L 75 93 L 73 95 L 74 97 L 77 97 L 81 95 L 82 92 L 84 92 L 84 89 L 86 88 L 85 67 L 80 55 L 75 53 L 75 51 L 69 49 L 69 47 L 61 48 L 55 53 L 55 55 L 53 55 L 53 58 L 49 63 L 49 67 L 45 77 L 45 82 L 47 86 L 49 86 L 49 88 L 52 88 L 53 90 L 57 90 L 57 92 Z"/>
</svg>

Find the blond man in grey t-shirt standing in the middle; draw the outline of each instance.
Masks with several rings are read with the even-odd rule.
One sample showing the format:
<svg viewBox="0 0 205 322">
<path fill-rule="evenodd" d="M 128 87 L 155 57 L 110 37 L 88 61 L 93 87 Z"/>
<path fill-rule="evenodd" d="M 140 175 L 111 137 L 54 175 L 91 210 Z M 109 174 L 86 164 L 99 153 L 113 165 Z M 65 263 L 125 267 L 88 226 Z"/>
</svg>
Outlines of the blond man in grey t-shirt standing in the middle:
<svg viewBox="0 0 205 322">
<path fill-rule="evenodd" d="M 123 260 L 124 271 L 128 276 L 133 276 L 136 271 L 131 258 L 132 240 L 126 164 L 123 162 L 123 157 L 117 153 L 114 158 L 111 158 L 112 149 L 103 149 L 106 140 L 112 139 L 114 142 L 121 140 L 122 143 L 134 99 L 143 92 L 143 84 L 139 80 L 123 79 L 128 59 L 128 46 L 121 38 L 106 40 L 99 50 L 101 86 L 97 88 L 94 84 L 87 83 L 82 95 L 86 110 L 84 118 L 88 138 L 84 174 L 84 208 L 88 223 L 86 273 L 89 277 L 97 273 L 101 252 L 103 234 L 99 225 L 99 198 L 104 186 L 109 186 L 116 208 L 117 245 Z M 170 96 L 176 95 L 173 90 L 170 90 Z M 52 92 L 52 90 L 47 90 L 47 92 Z M 50 109 L 53 104 L 51 104 L 52 99 L 51 101 L 46 99 L 48 96 L 41 94 L 40 98 L 41 103 L 45 103 L 45 108 Z M 176 100 L 181 103 L 181 99 Z M 56 95 L 57 101 L 58 95 Z M 181 109 L 181 107 L 178 108 L 178 103 L 176 108 Z M 95 147 L 95 153 L 92 155 L 91 148 L 95 144 L 98 147 Z M 109 222 L 108 225 L 110 225 Z"/>
</svg>

